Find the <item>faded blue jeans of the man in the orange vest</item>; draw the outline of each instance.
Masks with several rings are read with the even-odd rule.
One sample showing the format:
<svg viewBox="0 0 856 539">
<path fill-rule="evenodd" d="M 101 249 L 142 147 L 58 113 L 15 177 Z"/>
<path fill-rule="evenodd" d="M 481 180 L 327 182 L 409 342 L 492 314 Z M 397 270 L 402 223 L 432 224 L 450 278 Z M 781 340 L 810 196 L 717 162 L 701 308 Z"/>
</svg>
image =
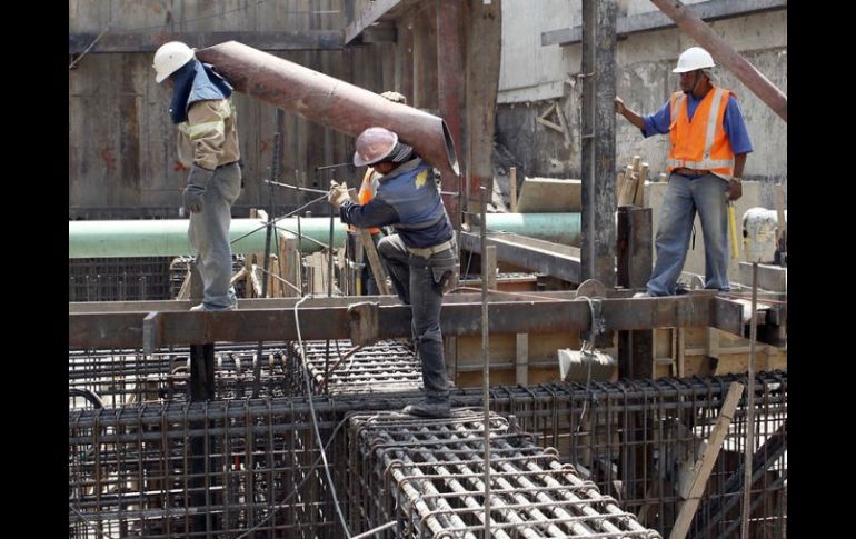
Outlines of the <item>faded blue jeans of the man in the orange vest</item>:
<svg viewBox="0 0 856 539">
<path fill-rule="evenodd" d="M 657 226 L 657 262 L 648 281 L 651 296 L 675 293 L 698 211 L 705 237 L 705 288 L 729 290 L 727 182 L 715 174 L 687 178 L 673 173 Z"/>
</svg>

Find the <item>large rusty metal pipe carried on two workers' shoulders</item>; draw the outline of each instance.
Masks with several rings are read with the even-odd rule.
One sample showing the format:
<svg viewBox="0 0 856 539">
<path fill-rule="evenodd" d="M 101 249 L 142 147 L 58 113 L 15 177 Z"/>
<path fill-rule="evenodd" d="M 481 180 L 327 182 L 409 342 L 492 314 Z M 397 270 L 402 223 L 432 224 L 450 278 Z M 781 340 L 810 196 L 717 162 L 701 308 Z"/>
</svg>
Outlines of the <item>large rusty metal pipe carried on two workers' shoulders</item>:
<svg viewBox="0 0 856 539">
<path fill-rule="evenodd" d="M 198 50 L 196 56 L 216 66 L 240 92 L 351 137 L 372 126 L 385 127 L 444 176 L 460 173 L 455 143 L 441 118 L 237 41 Z"/>
</svg>

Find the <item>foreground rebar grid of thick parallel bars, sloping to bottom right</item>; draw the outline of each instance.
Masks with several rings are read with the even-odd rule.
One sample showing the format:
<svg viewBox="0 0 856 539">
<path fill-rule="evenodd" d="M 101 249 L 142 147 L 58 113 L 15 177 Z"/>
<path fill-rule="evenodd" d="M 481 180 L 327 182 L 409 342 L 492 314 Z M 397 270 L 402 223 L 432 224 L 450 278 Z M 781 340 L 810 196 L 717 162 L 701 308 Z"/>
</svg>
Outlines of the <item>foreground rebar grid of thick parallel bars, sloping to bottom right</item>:
<svg viewBox="0 0 856 539">
<path fill-rule="evenodd" d="M 478 537 L 485 521 L 484 428 L 482 413 L 474 410 L 429 420 L 397 412 L 352 416 L 348 450 L 360 468 L 349 475 L 352 527 L 397 520 L 386 537 Z M 489 437 L 492 536 L 660 537 L 505 418 L 491 413 Z M 385 499 L 370 500 L 378 492 Z M 362 510 L 372 507 L 374 521 Z"/>
</svg>

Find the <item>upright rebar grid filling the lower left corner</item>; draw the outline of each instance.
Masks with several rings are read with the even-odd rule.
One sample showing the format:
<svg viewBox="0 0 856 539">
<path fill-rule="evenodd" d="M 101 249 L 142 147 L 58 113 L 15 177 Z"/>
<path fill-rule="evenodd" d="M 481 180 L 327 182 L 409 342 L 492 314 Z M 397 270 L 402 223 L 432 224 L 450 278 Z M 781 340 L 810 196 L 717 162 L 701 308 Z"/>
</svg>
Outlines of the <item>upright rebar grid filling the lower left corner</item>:
<svg viewBox="0 0 856 539">
<path fill-rule="evenodd" d="M 308 413 L 255 403 L 71 411 L 69 536 L 340 537 Z"/>
</svg>

